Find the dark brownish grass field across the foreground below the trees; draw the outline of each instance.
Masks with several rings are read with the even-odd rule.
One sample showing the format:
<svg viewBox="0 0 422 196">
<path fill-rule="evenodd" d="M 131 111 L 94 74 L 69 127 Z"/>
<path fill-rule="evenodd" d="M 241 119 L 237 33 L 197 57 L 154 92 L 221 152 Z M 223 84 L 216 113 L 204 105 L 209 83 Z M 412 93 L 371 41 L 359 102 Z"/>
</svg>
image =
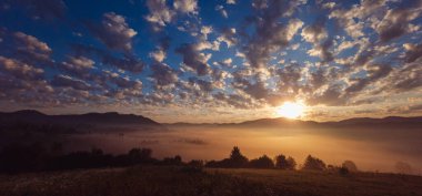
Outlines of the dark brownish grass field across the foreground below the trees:
<svg viewBox="0 0 422 196">
<path fill-rule="evenodd" d="M 137 166 L 1 175 L 1 196 L 416 196 L 422 177 L 277 169 Z"/>
</svg>

